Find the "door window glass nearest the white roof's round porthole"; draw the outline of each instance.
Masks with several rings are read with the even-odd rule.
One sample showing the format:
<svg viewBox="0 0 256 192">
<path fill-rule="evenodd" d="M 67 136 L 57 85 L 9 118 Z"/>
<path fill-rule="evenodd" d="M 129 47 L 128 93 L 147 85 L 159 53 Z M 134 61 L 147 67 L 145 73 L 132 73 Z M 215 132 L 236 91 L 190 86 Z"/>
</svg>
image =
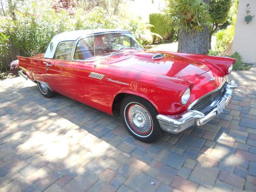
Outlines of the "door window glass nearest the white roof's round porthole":
<svg viewBox="0 0 256 192">
<path fill-rule="evenodd" d="M 54 58 L 60 60 L 71 60 L 73 46 L 73 41 L 61 42 L 55 52 Z"/>
</svg>

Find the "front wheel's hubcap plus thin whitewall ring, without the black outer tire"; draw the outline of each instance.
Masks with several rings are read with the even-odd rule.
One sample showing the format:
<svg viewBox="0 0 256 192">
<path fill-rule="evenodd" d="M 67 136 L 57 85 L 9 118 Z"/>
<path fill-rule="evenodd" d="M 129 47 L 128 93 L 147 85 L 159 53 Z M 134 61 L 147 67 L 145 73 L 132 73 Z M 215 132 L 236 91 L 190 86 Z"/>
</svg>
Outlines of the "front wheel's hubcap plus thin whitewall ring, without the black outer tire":
<svg viewBox="0 0 256 192">
<path fill-rule="evenodd" d="M 153 121 L 150 113 L 139 103 L 129 103 L 125 108 L 127 125 L 130 130 L 140 137 L 147 137 L 152 133 Z M 127 120 L 126 120 L 127 119 Z"/>
</svg>

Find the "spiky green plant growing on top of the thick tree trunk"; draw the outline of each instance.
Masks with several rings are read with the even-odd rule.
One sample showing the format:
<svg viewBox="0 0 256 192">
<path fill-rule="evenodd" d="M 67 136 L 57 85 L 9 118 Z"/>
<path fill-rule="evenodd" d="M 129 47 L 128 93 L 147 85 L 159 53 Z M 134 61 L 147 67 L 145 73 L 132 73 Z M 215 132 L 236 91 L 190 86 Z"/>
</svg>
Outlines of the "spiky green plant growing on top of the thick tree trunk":
<svg viewBox="0 0 256 192">
<path fill-rule="evenodd" d="M 175 30 L 196 32 L 209 26 L 208 9 L 202 0 L 169 0 L 166 13 Z"/>
</svg>

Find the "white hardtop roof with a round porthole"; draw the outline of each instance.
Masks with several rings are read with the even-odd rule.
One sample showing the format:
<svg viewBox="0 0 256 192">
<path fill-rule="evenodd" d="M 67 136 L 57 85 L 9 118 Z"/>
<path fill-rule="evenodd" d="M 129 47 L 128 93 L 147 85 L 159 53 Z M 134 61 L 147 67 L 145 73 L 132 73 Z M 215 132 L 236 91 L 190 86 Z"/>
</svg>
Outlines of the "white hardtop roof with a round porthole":
<svg viewBox="0 0 256 192">
<path fill-rule="evenodd" d="M 46 50 L 45 58 L 53 58 L 55 50 L 61 41 L 76 41 L 80 37 L 85 37 L 88 35 L 97 35 L 102 33 L 130 33 L 129 31 L 122 30 L 122 29 L 87 29 L 87 30 L 78 30 L 78 31 L 68 31 L 64 33 L 60 33 L 54 36 Z M 53 42 L 53 49 L 50 50 L 50 45 Z"/>
</svg>

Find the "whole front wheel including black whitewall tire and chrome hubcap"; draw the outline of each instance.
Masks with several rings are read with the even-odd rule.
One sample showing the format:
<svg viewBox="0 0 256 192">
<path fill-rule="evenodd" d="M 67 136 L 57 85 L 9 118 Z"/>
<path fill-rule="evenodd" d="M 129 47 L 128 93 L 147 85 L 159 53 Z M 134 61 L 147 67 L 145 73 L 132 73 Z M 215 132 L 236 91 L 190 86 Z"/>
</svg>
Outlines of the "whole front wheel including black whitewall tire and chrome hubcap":
<svg viewBox="0 0 256 192">
<path fill-rule="evenodd" d="M 152 143 L 162 135 L 158 113 L 150 102 L 136 96 L 125 97 L 120 110 L 126 129 L 134 138 Z"/>
</svg>

